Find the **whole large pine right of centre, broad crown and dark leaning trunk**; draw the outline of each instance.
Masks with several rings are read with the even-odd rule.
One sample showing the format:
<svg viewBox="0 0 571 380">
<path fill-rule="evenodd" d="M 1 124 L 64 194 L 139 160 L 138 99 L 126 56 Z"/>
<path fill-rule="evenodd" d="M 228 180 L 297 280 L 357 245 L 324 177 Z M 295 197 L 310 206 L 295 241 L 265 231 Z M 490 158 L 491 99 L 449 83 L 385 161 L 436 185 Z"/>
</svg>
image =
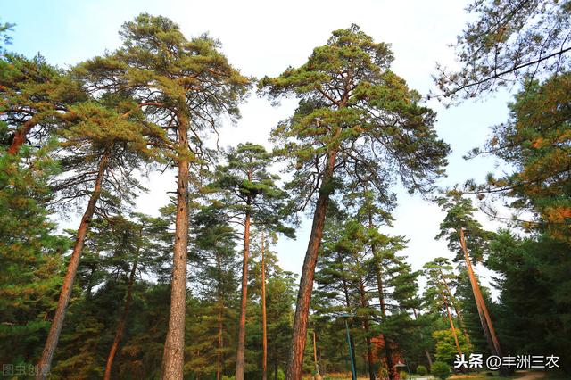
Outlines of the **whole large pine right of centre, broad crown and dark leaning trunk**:
<svg viewBox="0 0 571 380">
<path fill-rule="evenodd" d="M 410 191 L 424 193 L 446 164 L 449 147 L 432 128 L 434 112 L 419 105 L 420 95 L 389 70 L 392 61 L 388 45 L 375 43 L 352 25 L 335 30 L 301 67 L 263 78 L 259 85 L 272 98 L 300 99 L 294 116 L 272 136 L 276 152 L 291 162 L 289 188 L 300 196 L 302 207 L 315 201 L 286 375 L 294 380 L 302 376 L 313 276 L 335 189 L 351 188 L 359 181 L 355 173 L 375 173 L 393 163 L 391 174 L 399 175 Z M 385 179 L 370 178 L 371 188 L 385 188 Z"/>
</svg>

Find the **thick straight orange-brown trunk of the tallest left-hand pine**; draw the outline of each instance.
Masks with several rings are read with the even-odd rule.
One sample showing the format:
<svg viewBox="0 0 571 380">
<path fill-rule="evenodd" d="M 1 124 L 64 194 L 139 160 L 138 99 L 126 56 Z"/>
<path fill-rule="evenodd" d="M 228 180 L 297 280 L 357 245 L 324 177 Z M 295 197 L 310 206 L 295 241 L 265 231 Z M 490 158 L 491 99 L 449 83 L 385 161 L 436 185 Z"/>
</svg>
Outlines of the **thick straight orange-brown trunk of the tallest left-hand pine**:
<svg viewBox="0 0 571 380">
<path fill-rule="evenodd" d="M 187 122 L 178 126 L 177 219 L 172 260 L 170 316 L 162 355 L 162 379 L 183 378 L 185 362 L 186 256 L 188 254 L 188 151 Z"/>
</svg>

